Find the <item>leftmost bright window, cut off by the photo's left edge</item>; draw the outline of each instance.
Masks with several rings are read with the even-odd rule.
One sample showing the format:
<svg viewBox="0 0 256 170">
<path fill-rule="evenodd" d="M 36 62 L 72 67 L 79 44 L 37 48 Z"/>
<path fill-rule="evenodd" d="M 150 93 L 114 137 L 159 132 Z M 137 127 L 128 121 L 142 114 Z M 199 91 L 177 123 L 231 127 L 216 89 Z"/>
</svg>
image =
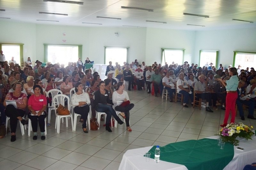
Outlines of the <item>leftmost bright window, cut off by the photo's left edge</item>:
<svg viewBox="0 0 256 170">
<path fill-rule="evenodd" d="M 14 57 L 17 64 L 23 61 L 23 44 L 0 43 L 0 49 L 3 50 L 5 60 L 9 61 Z"/>
</svg>

